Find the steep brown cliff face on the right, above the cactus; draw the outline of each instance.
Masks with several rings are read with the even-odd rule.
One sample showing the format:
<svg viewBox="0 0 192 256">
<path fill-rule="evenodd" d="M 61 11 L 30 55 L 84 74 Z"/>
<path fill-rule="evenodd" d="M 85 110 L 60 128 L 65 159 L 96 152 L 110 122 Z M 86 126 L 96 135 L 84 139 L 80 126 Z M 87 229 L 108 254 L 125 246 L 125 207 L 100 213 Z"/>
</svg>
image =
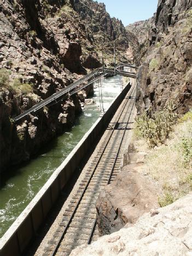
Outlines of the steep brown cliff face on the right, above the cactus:
<svg viewBox="0 0 192 256">
<path fill-rule="evenodd" d="M 159 0 L 146 61 L 137 74 L 139 112 L 170 100 L 179 114 L 192 107 L 192 1 Z"/>
</svg>

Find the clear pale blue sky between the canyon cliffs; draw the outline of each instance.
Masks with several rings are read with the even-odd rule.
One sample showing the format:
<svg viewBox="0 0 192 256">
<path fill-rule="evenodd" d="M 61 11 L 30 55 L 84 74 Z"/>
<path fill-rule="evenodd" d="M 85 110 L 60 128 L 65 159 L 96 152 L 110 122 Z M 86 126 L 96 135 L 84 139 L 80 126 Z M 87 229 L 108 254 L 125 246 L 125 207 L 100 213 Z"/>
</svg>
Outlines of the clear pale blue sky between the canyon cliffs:
<svg viewBox="0 0 192 256">
<path fill-rule="evenodd" d="M 97 0 L 106 5 L 111 17 L 118 18 L 125 26 L 153 16 L 158 0 Z"/>
</svg>

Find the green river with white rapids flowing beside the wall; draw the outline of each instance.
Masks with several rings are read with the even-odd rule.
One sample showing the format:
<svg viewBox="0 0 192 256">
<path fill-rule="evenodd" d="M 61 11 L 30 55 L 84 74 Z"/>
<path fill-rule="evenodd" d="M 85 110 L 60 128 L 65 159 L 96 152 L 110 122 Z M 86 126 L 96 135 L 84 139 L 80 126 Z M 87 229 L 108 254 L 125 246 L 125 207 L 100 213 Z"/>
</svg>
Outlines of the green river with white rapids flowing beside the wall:
<svg viewBox="0 0 192 256">
<path fill-rule="evenodd" d="M 95 84 L 96 86 L 97 84 Z M 105 79 L 102 88 L 103 106 L 106 110 L 121 90 L 120 77 Z M 32 159 L 11 172 L 10 177 L 0 188 L 0 237 L 100 117 L 98 95 L 97 87 L 94 89 L 94 97 L 92 97 L 96 104 L 85 106 L 83 113 L 77 118 L 70 131 L 54 139 L 49 144 L 49 148 L 42 151 L 36 159 Z"/>
</svg>

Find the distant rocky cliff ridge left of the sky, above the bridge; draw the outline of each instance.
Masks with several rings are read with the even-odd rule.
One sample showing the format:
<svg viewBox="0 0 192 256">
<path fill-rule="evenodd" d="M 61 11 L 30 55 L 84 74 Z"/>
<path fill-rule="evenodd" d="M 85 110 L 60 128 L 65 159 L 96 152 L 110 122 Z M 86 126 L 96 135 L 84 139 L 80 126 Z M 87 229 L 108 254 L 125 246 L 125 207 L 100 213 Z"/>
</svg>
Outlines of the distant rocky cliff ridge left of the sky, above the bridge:
<svg viewBox="0 0 192 256">
<path fill-rule="evenodd" d="M 85 22 L 85 27 L 93 35 L 94 42 L 101 60 L 101 48 L 103 44 L 104 61 L 112 64 L 113 42 L 117 47 L 117 56 L 121 61 L 125 60 L 125 50 L 129 46 L 127 32 L 122 22 L 110 18 L 103 3 L 92 0 L 74 0 L 75 9 Z"/>
</svg>

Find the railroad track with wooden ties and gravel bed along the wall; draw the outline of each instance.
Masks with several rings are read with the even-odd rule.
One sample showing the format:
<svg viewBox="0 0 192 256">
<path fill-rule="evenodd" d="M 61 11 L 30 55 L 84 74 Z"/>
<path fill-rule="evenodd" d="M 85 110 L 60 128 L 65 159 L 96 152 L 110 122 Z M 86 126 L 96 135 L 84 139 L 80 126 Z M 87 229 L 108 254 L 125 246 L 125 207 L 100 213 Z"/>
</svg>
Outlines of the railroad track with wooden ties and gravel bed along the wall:
<svg viewBox="0 0 192 256">
<path fill-rule="evenodd" d="M 44 248 L 45 255 L 67 256 L 72 249 L 98 238 L 96 208 L 100 191 L 114 180 L 120 171 L 126 130 L 135 104 L 136 86 L 132 86 L 118 112 L 109 124 L 97 155 L 86 169 L 79 188 L 71 197 L 63 218 Z"/>
</svg>

